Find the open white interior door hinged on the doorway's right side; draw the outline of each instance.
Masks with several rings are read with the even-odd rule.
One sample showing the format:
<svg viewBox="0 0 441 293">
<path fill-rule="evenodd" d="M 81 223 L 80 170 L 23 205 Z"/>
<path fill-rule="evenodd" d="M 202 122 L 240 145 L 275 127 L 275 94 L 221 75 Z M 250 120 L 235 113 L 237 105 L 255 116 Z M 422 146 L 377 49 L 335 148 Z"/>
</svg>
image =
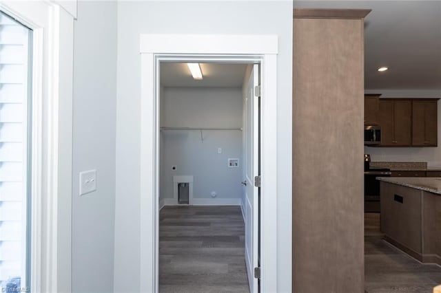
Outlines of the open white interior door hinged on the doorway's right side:
<svg viewBox="0 0 441 293">
<path fill-rule="evenodd" d="M 254 178 L 259 175 L 259 68 L 253 65 L 245 94 L 245 260 L 250 292 L 258 292 L 254 277 L 259 259 L 259 198 Z"/>
</svg>

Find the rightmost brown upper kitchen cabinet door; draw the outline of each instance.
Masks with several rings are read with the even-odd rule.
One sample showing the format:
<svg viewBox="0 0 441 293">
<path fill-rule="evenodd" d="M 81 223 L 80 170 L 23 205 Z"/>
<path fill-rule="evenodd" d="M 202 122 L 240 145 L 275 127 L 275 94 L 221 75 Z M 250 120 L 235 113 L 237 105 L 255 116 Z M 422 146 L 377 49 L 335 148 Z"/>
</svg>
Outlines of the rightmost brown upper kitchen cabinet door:
<svg viewBox="0 0 441 293">
<path fill-rule="evenodd" d="M 438 145 L 437 100 L 412 100 L 412 146 Z"/>
</svg>

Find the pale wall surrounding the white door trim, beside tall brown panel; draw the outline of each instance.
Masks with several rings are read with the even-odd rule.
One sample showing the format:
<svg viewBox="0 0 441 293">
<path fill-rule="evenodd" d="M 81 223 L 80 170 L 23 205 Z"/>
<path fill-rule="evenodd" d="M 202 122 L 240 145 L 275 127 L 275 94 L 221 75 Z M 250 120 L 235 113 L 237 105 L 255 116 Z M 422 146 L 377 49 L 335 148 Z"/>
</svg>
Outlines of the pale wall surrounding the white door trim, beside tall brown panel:
<svg viewBox="0 0 441 293">
<path fill-rule="evenodd" d="M 276 34 L 278 292 L 291 292 L 292 1 L 120 1 L 116 124 L 116 292 L 139 291 L 139 34 Z M 268 97 L 271 98 L 271 97 Z M 127 227 L 130 227 L 127 228 Z M 130 281 L 128 281 L 130 280 Z"/>
</svg>

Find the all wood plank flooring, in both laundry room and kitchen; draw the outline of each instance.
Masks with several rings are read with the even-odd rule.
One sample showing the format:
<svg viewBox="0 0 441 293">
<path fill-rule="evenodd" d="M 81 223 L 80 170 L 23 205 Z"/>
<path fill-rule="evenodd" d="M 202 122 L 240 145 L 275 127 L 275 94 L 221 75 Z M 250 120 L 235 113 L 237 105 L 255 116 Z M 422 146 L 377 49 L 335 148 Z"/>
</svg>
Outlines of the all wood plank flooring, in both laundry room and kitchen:
<svg viewBox="0 0 441 293">
<path fill-rule="evenodd" d="M 431 293 L 441 267 L 382 240 L 380 215 L 365 214 L 368 293 Z M 249 292 L 238 206 L 166 206 L 160 213 L 159 292 Z"/>
</svg>

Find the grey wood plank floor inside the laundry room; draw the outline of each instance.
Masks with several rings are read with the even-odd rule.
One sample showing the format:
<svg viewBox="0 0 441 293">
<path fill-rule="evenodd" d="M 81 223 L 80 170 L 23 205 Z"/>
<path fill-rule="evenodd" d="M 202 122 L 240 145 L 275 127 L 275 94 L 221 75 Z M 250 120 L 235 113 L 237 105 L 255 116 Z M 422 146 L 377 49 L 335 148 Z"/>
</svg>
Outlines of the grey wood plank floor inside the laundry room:
<svg viewBox="0 0 441 293">
<path fill-rule="evenodd" d="M 249 292 L 239 206 L 165 206 L 159 292 Z"/>
</svg>

